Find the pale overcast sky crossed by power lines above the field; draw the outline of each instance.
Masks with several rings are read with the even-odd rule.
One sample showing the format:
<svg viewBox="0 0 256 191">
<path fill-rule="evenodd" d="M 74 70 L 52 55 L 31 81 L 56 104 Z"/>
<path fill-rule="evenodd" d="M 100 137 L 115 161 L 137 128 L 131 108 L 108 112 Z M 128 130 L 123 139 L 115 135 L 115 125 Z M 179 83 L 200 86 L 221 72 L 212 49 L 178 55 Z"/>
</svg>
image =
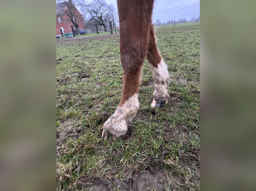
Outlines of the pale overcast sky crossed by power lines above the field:
<svg viewBox="0 0 256 191">
<path fill-rule="evenodd" d="M 108 4 L 113 4 L 117 8 L 116 0 L 105 0 L 105 1 Z M 175 7 L 178 7 L 178 8 L 175 8 Z M 186 7 L 190 7 L 190 8 L 186 8 Z M 174 8 L 174 9 L 170 9 L 170 8 Z M 168 10 L 163 10 L 163 9 L 168 9 Z M 176 9 L 179 9 L 179 10 L 176 10 Z M 163 11 L 158 11 L 158 10 L 163 10 Z M 161 12 L 164 12 L 164 13 L 161 13 Z M 183 15 L 186 15 L 186 16 L 183 16 Z M 199 15 L 200 15 L 200 0 L 155 0 L 155 3 L 154 3 L 153 22 L 156 21 L 157 19 L 160 19 L 160 21 L 163 22 L 163 21 L 174 20 L 174 19 L 178 20 L 179 18 L 186 18 L 186 20 L 190 21 L 191 17 L 198 17 Z"/>
</svg>

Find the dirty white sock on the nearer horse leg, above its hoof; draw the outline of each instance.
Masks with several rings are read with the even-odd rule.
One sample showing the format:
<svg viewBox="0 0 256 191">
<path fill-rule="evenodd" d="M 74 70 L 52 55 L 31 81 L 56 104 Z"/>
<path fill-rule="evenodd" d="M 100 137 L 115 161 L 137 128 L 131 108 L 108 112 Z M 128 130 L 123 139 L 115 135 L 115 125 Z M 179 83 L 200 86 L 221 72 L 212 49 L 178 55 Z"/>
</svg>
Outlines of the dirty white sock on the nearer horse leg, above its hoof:
<svg viewBox="0 0 256 191">
<path fill-rule="evenodd" d="M 104 123 L 103 129 L 116 137 L 127 132 L 127 120 L 131 121 L 139 109 L 138 94 L 134 94 Z"/>
</svg>

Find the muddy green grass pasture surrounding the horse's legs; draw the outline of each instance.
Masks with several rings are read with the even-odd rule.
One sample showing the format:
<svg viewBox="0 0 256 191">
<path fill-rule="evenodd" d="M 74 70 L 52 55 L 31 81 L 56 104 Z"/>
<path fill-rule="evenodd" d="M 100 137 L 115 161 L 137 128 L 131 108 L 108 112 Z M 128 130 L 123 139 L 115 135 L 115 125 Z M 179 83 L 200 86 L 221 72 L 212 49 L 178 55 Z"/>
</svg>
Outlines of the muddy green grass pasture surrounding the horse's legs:
<svg viewBox="0 0 256 191">
<path fill-rule="evenodd" d="M 156 29 L 170 100 L 145 60 L 128 132 L 102 141 L 122 94 L 119 34 L 56 39 L 56 190 L 200 190 L 200 24 Z"/>
</svg>

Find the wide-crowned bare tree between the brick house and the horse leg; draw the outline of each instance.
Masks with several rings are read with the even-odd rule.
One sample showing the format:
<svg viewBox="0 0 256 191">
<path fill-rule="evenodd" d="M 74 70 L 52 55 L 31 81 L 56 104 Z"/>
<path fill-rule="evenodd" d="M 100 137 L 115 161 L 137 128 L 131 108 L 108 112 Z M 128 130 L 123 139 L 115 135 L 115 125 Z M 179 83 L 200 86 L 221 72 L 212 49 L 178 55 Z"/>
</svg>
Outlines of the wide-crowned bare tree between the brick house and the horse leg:
<svg viewBox="0 0 256 191">
<path fill-rule="evenodd" d="M 82 4 L 81 7 L 84 14 L 89 14 L 92 20 L 94 20 L 98 25 L 102 25 L 105 32 L 107 31 L 105 17 L 108 11 L 108 4 L 105 0 L 94 0 L 91 3 Z"/>
</svg>

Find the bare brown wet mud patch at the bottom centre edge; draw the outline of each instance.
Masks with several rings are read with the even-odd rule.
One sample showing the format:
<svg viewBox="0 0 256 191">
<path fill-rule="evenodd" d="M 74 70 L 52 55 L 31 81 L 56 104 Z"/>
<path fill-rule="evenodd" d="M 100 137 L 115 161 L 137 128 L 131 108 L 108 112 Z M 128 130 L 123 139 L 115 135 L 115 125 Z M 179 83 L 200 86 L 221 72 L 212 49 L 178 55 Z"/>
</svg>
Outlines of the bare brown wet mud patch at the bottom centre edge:
<svg viewBox="0 0 256 191">
<path fill-rule="evenodd" d="M 159 163 L 148 165 L 143 172 L 130 170 L 125 173 L 124 179 L 117 178 L 116 172 L 108 175 L 106 180 L 99 176 L 95 178 L 80 178 L 76 183 L 77 188 L 90 188 L 97 191 L 121 190 L 121 191 L 162 191 L 168 188 L 166 174 Z"/>
</svg>

